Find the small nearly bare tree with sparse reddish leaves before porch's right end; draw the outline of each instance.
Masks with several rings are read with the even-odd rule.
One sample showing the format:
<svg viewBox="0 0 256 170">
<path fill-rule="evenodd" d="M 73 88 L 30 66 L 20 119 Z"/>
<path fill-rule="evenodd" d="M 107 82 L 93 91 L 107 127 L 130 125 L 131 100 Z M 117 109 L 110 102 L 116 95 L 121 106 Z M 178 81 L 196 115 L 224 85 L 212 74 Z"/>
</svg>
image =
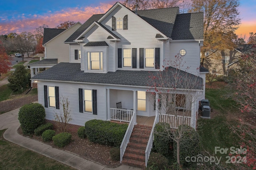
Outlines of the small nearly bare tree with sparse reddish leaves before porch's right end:
<svg viewBox="0 0 256 170">
<path fill-rule="evenodd" d="M 177 144 L 176 159 L 180 164 L 180 141 L 184 133 L 189 133 L 191 127 L 196 127 L 198 98 L 202 95 L 202 78 L 190 74 L 188 67 L 184 69 L 183 57 L 176 56 L 174 61 L 165 61 L 165 68 L 150 76 L 149 91 L 156 94 L 154 107 L 159 114 L 159 121 L 164 125 L 167 137 Z M 180 126 L 190 125 L 190 126 Z"/>
</svg>

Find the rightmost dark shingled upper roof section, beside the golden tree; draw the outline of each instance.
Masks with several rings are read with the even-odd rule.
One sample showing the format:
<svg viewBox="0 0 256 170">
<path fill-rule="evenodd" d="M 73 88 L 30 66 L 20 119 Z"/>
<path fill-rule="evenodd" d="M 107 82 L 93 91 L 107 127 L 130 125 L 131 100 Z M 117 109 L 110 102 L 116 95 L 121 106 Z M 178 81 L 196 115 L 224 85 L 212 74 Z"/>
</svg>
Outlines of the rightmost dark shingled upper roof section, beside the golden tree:
<svg viewBox="0 0 256 170">
<path fill-rule="evenodd" d="M 171 38 L 204 39 L 204 14 L 199 12 L 177 15 Z"/>
</svg>

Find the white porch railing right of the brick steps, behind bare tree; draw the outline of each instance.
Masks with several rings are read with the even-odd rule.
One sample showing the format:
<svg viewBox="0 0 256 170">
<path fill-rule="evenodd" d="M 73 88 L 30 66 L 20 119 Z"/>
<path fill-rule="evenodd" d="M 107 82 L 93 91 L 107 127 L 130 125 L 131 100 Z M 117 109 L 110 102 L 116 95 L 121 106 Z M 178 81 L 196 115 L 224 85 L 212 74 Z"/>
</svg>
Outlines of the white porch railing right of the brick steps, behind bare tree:
<svg viewBox="0 0 256 170">
<path fill-rule="evenodd" d="M 159 115 L 159 122 L 168 123 L 172 128 L 175 128 L 175 129 L 177 129 L 179 125 L 191 126 L 190 121 L 191 121 L 191 117 L 189 116 L 167 115 L 167 114 Z"/>
</svg>

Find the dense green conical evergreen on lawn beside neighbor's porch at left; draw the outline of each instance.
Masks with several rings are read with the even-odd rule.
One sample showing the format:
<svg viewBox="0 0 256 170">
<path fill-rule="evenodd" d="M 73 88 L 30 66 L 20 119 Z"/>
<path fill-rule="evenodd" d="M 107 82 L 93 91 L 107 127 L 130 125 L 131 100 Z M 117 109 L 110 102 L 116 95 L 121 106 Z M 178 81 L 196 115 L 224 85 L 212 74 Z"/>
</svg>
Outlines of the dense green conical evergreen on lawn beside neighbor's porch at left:
<svg viewBox="0 0 256 170">
<path fill-rule="evenodd" d="M 19 64 L 8 77 L 8 85 L 14 92 L 21 93 L 29 86 L 29 76 L 25 66 Z"/>
</svg>

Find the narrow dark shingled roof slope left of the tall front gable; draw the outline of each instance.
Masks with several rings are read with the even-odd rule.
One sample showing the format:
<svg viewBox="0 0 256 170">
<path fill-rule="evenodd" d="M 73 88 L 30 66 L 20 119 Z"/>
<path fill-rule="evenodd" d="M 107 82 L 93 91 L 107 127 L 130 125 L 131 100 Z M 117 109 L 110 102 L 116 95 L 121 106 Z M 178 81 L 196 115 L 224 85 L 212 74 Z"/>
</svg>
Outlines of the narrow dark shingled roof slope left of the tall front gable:
<svg viewBox="0 0 256 170">
<path fill-rule="evenodd" d="M 89 27 L 92 24 L 92 22 L 100 20 L 100 18 L 102 18 L 103 15 L 104 14 L 96 14 L 96 15 L 91 16 L 83 25 L 81 25 L 81 27 L 79 27 L 72 35 L 70 35 L 70 37 L 68 37 L 68 39 L 66 39 L 65 43 L 74 42 L 74 40 L 81 33 L 83 33 L 84 30 L 86 30 L 86 28 Z"/>
</svg>

